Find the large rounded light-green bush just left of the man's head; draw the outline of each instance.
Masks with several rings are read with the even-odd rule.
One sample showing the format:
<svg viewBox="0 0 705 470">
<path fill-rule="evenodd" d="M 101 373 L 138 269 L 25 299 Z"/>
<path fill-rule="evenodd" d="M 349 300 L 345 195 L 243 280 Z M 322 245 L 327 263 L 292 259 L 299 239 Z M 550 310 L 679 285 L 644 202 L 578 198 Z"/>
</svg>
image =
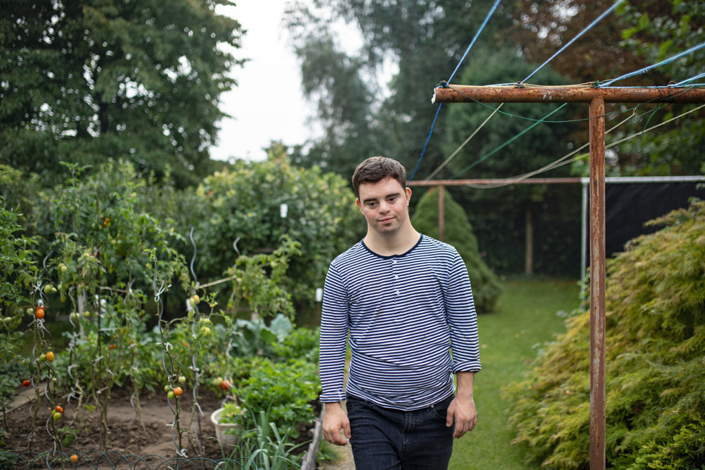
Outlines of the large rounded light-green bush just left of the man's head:
<svg viewBox="0 0 705 470">
<path fill-rule="evenodd" d="M 283 147 L 266 161 L 237 161 L 205 178 L 197 188 L 198 222 L 193 239 L 200 281 L 223 275 L 240 254 L 271 254 L 285 235 L 301 245 L 283 278 L 299 302 L 311 302 L 322 287 L 328 264 L 359 240 L 355 195 L 343 178 L 321 168 L 290 164 Z M 281 205 L 286 204 L 286 216 Z"/>
</svg>

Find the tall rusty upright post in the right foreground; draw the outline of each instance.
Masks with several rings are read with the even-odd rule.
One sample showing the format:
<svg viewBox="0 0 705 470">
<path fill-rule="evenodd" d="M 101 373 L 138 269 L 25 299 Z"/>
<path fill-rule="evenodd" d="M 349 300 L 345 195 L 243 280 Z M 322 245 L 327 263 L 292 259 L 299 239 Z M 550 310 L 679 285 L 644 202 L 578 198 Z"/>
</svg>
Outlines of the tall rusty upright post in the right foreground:
<svg viewBox="0 0 705 470">
<path fill-rule="evenodd" d="M 606 466 L 605 100 L 590 101 L 590 469 Z"/>
</svg>

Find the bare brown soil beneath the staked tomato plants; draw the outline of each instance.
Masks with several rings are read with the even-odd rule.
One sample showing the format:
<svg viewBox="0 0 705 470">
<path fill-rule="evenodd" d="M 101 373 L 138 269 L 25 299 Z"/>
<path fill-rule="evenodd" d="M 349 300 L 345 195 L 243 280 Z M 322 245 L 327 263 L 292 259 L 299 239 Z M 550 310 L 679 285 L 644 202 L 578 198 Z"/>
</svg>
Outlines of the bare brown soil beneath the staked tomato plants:
<svg viewBox="0 0 705 470">
<path fill-rule="evenodd" d="M 186 457 L 204 457 L 207 459 L 222 459 L 223 452 L 215 438 L 215 428 L 210 421 L 210 414 L 221 406 L 221 401 L 210 390 L 205 390 L 199 394 L 198 404 L 202 414 L 197 414 L 197 421 L 192 421 L 192 397 L 185 392 L 180 398 L 181 423 L 186 430 L 197 430 L 198 440 L 188 438 L 187 433 L 183 433 L 182 447 L 186 450 Z M 51 409 L 56 404 L 63 407 L 63 416 L 59 421 L 54 422 L 55 428 L 68 427 L 76 413 L 77 403 L 75 400 L 61 403 L 49 404 L 42 394 L 42 401 L 39 404 L 37 424 L 34 427 L 31 447 L 27 436 L 32 431 L 32 412 L 35 405 L 30 401 L 35 396 L 35 390 L 24 389 L 16 398 L 11 409 L 6 413 L 2 428 L 7 431 L 6 435 L 0 435 L 0 440 L 4 440 L 6 445 L 0 450 L 7 450 L 14 454 L 25 452 L 46 452 L 49 450 L 60 450 L 59 444 L 47 432 L 47 423 L 51 415 Z M 97 459 L 99 451 L 111 455 L 111 461 L 116 462 L 123 455 L 135 455 L 147 461 L 151 468 L 156 468 L 164 463 L 164 459 L 176 459 L 178 433 L 172 432 L 174 422 L 174 400 L 171 400 L 171 407 L 164 392 L 145 392 L 140 395 L 141 423 L 138 418 L 136 402 L 130 400 L 130 392 L 126 390 L 112 390 L 107 412 L 108 433 L 107 445 L 103 448 L 104 433 L 98 409 L 92 413 L 83 414 L 73 425 L 77 437 L 70 445 L 67 445 L 63 452 L 67 455 L 73 453 L 85 453 L 92 460 Z M 135 404 L 135 406 L 133 406 Z M 196 416 L 196 415 L 195 415 Z M 303 423 L 297 426 L 297 430 L 302 436 L 301 440 L 310 440 L 309 430 L 312 426 Z M 51 427 L 49 427 L 51 429 Z M 200 445 L 199 445 L 200 443 Z M 56 446 L 56 447 L 55 447 Z M 305 446 L 302 446 L 305 450 Z M 113 454 L 109 452 L 114 451 Z M 118 454 L 119 452 L 119 454 Z M 80 459 L 87 457 L 80 455 Z M 79 462 L 80 463 L 80 462 Z M 80 466 L 80 465 L 79 465 Z M 0 464 L 1 467 L 1 464 Z M 106 468 L 110 464 L 106 462 Z M 59 467 L 60 468 L 60 467 Z M 99 466 L 102 468 L 102 466 Z"/>
</svg>

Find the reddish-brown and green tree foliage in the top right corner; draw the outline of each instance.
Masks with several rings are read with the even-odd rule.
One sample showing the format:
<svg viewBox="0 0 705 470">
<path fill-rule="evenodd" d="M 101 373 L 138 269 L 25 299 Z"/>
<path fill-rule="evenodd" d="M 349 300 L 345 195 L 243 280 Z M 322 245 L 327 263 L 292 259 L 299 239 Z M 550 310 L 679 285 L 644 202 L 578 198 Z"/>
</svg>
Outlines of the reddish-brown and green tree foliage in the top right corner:
<svg viewBox="0 0 705 470">
<path fill-rule="evenodd" d="M 513 16 L 517 20 L 512 36 L 527 60 L 541 62 L 613 3 L 611 0 L 516 2 Z M 618 78 L 701 44 L 705 39 L 704 12 L 702 0 L 630 0 L 591 27 L 553 59 L 551 65 L 575 82 Z M 664 86 L 687 81 L 702 72 L 703 61 L 705 51 L 700 49 L 678 61 L 615 82 L 614 86 Z M 639 116 L 608 136 L 608 140 L 621 140 L 693 108 L 693 105 L 644 104 L 639 106 Z M 608 105 L 607 111 L 615 110 L 619 111 L 620 105 Z M 699 156 L 705 148 L 704 116 L 699 111 L 620 144 L 611 174 L 697 174 L 701 171 Z M 625 117 L 613 115 L 612 122 L 607 124 L 615 125 Z M 584 165 L 575 167 L 576 173 L 586 171 Z"/>
</svg>

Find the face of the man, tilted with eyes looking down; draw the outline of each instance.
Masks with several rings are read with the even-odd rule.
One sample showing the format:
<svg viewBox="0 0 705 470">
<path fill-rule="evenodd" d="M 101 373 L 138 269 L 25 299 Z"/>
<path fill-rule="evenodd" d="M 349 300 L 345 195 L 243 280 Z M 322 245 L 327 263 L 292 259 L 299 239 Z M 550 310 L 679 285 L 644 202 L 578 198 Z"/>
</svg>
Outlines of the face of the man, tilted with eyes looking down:
<svg viewBox="0 0 705 470">
<path fill-rule="evenodd" d="M 367 219 L 367 227 L 377 233 L 396 233 L 407 221 L 411 190 L 401 187 L 394 178 L 364 183 L 357 189 L 356 204 Z"/>
</svg>

